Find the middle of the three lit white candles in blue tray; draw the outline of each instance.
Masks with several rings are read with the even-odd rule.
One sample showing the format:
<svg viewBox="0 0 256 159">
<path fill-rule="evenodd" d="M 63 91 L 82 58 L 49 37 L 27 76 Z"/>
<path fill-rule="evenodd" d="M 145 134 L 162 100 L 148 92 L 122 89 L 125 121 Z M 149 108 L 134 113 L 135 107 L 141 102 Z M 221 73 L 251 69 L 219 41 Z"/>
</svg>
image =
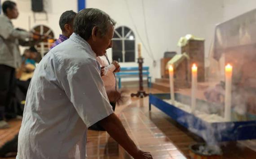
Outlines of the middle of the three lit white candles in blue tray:
<svg viewBox="0 0 256 159">
<path fill-rule="evenodd" d="M 192 88 L 191 88 L 191 113 L 194 113 L 196 107 L 196 93 L 197 93 L 197 66 L 192 66 Z"/>
</svg>

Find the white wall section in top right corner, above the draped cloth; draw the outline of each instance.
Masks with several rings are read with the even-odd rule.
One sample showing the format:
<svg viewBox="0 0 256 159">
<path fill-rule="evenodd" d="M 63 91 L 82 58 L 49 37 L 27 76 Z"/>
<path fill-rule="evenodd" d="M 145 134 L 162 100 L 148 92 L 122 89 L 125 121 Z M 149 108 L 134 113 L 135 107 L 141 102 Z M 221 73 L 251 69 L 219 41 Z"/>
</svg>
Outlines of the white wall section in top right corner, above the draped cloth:
<svg viewBox="0 0 256 159">
<path fill-rule="evenodd" d="M 227 21 L 256 8 L 256 0 L 223 0 L 223 20 Z"/>
</svg>

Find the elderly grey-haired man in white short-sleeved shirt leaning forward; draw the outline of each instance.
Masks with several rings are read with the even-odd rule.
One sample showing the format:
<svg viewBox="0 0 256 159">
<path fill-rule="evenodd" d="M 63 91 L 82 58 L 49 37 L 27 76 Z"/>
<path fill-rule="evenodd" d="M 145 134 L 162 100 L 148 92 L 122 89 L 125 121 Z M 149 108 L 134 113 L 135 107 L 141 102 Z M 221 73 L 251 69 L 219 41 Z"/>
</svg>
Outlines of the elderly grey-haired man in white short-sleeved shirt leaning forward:
<svg viewBox="0 0 256 159">
<path fill-rule="evenodd" d="M 112 46 L 115 21 L 86 8 L 74 33 L 44 56 L 26 97 L 17 159 L 85 159 L 86 135 L 97 121 L 135 159 L 152 159 L 129 138 L 113 113 L 97 56 Z"/>
</svg>

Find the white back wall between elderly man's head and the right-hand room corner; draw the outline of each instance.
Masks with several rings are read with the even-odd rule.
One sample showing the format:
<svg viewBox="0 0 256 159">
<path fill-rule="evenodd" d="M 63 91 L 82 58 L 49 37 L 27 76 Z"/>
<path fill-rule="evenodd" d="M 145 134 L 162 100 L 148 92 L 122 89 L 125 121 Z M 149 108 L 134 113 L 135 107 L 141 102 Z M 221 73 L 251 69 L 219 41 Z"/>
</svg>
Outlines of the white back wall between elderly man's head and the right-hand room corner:
<svg viewBox="0 0 256 159">
<path fill-rule="evenodd" d="M 141 0 L 87 0 L 87 8 L 99 8 L 117 21 L 117 27 L 126 25 L 131 28 L 136 37 L 136 43 L 141 42 L 132 24 L 128 8 L 142 40 L 146 43 L 145 26 L 143 21 Z M 209 46 L 213 38 L 214 27 L 222 21 L 223 0 L 144 0 L 146 24 L 149 41 L 156 67 L 142 47 L 144 66 L 150 66 L 150 74 L 154 78 L 160 77 L 160 59 L 167 50 L 180 53 L 177 42 L 181 36 L 191 33 L 205 38 L 205 54 L 208 55 Z M 146 46 L 148 47 L 148 46 Z M 108 50 L 111 56 L 111 50 Z M 137 66 L 137 63 L 121 63 L 121 66 Z"/>
</svg>

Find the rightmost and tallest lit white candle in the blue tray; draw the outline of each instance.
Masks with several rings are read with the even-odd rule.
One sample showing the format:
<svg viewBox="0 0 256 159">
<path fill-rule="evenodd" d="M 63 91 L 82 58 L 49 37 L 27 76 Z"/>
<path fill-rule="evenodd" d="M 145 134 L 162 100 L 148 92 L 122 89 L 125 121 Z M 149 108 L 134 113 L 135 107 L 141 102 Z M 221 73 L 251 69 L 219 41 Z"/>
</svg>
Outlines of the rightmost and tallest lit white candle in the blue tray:
<svg viewBox="0 0 256 159">
<path fill-rule="evenodd" d="M 232 66 L 228 63 L 225 67 L 225 113 L 226 121 L 231 121 L 231 86 Z"/>
</svg>

